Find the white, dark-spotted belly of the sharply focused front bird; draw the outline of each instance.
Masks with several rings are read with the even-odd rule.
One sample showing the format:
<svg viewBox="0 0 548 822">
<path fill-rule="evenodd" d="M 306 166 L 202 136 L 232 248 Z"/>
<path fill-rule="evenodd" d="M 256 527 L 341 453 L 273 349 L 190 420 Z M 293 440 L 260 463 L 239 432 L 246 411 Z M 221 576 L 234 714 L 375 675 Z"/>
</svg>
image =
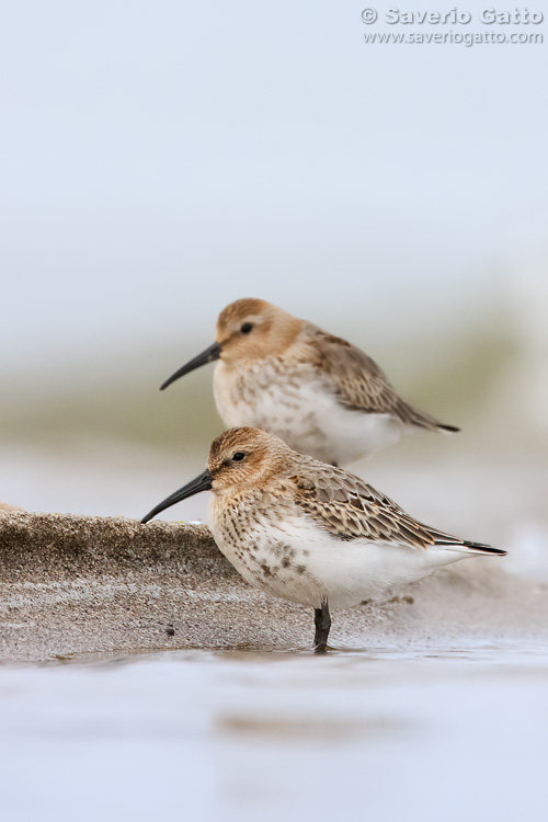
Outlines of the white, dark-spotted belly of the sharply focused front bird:
<svg viewBox="0 0 548 822">
<path fill-rule="evenodd" d="M 472 556 L 442 547 L 341 540 L 305 516 L 272 523 L 259 520 L 238 538 L 219 528 L 215 503 L 212 530 L 222 553 L 251 585 L 312 608 L 332 608 L 378 598 L 420 580 L 436 568 Z"/>
</svg>

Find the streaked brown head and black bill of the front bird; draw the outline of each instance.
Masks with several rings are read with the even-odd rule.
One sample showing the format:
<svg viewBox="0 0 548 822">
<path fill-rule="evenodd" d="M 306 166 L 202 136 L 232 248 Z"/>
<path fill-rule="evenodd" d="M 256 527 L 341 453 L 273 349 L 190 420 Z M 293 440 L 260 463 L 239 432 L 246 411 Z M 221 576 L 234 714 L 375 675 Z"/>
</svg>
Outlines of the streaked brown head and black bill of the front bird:
<svg viewBox="0 0 548 822">
<path fill-rule="evenodd" d="M 277 436 L 259 429 L 229 429 L 213 441 L 204 473 L 163 500 L 141 522 L 199 491 L 225 495 L 265 488 L 272 477 L 290 465 L 292 455 L 295 457 Z"/>
</svg>

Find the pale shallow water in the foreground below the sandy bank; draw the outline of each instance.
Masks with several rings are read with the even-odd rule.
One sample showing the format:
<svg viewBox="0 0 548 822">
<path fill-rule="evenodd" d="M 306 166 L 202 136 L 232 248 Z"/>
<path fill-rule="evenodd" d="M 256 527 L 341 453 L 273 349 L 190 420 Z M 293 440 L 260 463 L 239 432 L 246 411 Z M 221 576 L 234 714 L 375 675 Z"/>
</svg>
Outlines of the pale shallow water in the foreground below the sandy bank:
<svg viewBox="0 0 548 822">
<path fill-rule="evenodd" d="M 10 820 L 545 820 L 548 649 L 0 669 Z"/>
</svg>

